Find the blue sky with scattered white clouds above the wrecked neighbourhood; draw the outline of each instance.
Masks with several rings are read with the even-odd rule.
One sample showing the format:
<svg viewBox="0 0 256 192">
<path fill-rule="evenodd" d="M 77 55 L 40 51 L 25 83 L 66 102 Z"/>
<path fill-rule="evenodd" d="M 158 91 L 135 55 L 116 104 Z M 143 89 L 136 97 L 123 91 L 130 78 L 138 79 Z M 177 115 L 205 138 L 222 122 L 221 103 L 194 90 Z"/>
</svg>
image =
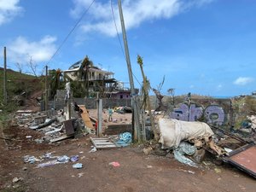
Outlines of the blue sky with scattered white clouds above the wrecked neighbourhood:
<svg viewBox="0 0 256 192">
<path fill-rule="evenodd" d="M 121 2 L 136 88 L 143 82 L 141 55 L 151 87 L 164 82 L 164 95 L 168 89 L 202 96 L 256 90 L 256 1 Z M 0 0 L 0 37 L 16 71 L 32 73 L 29 63 L 38 75 L 46 65 L 67 70 L 88 55 L 129 86 L 117 0 Z"/>
</svg>

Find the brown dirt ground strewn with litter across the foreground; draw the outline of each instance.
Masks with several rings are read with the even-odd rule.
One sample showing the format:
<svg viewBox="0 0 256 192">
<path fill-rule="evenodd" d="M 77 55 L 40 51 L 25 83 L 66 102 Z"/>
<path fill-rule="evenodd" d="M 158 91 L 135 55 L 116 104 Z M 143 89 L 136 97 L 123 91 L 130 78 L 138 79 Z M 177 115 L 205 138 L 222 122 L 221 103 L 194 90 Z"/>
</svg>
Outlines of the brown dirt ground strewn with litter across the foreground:
<svg viewBox="0 0 256 192">
<path fill-rule="evenodd" d="M 91 149 L 90 136 L 67 139 L 60 143 L 35 143 L 38 131 L 12 127 L 7 132 L 14 140 L 0 139 L 0 191 L 79 192 L 79 191 L 255 191 L 253 177 L 233 166 L 216 166 L 206 160 L 198 168 L 185 166 L 173 159 L 143 153 L 143 145 L 109 150 Z M 32 138 L 26 138 L 32 136 Z M 79 155 L 83 168 L 73 162 L 37 168 L 24 163 L 23 156 Z M 118 162 L 119 166 L 109 165 Z M 76 162 L 75 162 L 76 163 Z M 13 179 L 19 178 L 17 182 Z"/>
</svg>

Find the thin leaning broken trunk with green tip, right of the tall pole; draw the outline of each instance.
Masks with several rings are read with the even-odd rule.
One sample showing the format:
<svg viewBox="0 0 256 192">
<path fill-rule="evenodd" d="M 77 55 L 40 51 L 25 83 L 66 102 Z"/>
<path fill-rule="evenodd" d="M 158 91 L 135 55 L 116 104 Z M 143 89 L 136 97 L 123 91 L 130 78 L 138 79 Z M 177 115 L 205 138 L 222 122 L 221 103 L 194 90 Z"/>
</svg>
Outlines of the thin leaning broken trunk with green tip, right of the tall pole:
<svg viewBox="0 0 256 192">
<path fill-rule="evenodd" d="M 150 123 L 151 123 L 151 128 L 154 132 L 154 139 L 158 141 L 159 137 L 158 137 L 158 134 L 154 128 L 154 117 L 151 113 L 151 104 L 150 104 L 150 99 L 149 99 L 149 96 L 148 96 L 148 80 L 147 80 L 147 77 L 145 76 L 144 74 L 144 71 L 143 71 L 143 58 L 140 56 L 140 55 L 137 55 L 137 63 L 139 64 L 140 68 L 141 68 L 141 71 L 142 71 L 142 74 L 143 74 L 143 93 L 144 93 L 144 96 L 146 98 L 146 102 L 145 102 L 145 107 L 148 108 L 148 114 L 149 114 L 149 118 L 150 118 Z"/>
</svg>

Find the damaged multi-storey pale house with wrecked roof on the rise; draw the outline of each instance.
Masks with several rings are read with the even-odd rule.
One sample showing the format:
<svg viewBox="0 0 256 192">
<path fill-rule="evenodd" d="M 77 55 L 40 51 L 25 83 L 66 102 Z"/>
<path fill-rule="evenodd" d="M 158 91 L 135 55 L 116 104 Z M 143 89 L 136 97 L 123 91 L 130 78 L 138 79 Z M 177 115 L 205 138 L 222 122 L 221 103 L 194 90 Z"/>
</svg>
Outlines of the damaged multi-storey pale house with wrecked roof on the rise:
<svg viewBox="0 0 256 192">
<path fill-rule="evenodd" d="M 84 60 L 75 62 L 63 73 L 67 79 L 84 84 L 89 93 L 100 94 L 105 98 L 131 99 L 131 90 L 125 88 L 124 83 L 114 79 L 113 72 L 96 67 L 87 56 Z"/>
</svg>

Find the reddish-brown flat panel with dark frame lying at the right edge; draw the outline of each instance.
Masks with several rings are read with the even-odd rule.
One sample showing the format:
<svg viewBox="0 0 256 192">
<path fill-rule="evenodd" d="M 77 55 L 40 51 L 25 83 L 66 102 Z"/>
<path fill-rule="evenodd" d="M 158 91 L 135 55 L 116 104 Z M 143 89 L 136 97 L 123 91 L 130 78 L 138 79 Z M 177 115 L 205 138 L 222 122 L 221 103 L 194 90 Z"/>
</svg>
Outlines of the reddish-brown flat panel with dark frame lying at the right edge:
<svg viewBox="0 0 256 192">
<path fill-rule="evenodd" d="M 230 153 L 229 157 L 224 157 L 224 161 L 256 177 L 256 145 L 254 143 L 237 148 Z"/>
</svg>

